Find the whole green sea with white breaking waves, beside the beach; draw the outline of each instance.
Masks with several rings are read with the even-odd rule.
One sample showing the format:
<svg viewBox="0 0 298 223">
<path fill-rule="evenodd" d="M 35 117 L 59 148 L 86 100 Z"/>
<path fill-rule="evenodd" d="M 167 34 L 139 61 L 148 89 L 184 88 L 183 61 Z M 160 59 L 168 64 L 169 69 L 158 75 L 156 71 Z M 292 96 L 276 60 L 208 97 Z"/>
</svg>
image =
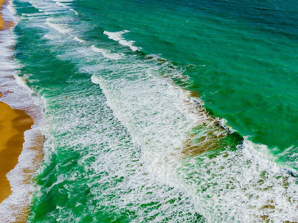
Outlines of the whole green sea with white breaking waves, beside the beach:
<svg viewBox="0 0 298 223">
<path fill-rule="evenodd" d="M 14 4 L 46 137 L 28 222 L 298 220 L 295 1 Z"/>
</svg>

